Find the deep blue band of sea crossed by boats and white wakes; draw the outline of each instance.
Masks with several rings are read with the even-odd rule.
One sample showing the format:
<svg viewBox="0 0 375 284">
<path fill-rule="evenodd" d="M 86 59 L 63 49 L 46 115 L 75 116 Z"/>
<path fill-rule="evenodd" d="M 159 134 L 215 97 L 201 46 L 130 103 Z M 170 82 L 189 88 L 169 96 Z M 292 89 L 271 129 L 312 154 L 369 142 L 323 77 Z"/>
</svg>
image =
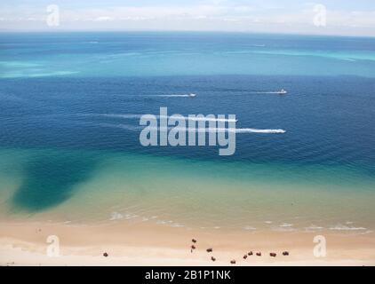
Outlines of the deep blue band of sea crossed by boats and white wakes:
<svg viewBox="0 0 375 284">
<path fill-rule="evenodd" d="M 374 79 L 226 75 L 2 81 L 0 144 L 4 147 L 108 149 L 374 169 Z M 281 87 L 289 94 L 252 92 Z M 190 92 L 199 95 L 195 99 L 162 96 Z M 140 130 L 131 128 L 139 118 L 132 114 L 158 114 L 160 106 L 168 106 L 169 114 L 236 114 L 237 128 L 286 133 L 237 133 L 236 153 L 227 158 L 218 157 L 217 147 L 140 146 Z"/>
</svg>

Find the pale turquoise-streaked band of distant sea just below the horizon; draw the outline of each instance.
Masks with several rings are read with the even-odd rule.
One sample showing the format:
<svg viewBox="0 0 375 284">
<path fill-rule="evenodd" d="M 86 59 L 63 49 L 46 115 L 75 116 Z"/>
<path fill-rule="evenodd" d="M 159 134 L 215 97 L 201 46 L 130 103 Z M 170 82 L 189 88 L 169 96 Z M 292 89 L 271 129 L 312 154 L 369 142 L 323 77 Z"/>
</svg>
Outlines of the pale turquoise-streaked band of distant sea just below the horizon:
<svg viewBox="0 0 375 284">
<path fill-rule="evenodd" d="M 2 78 L 145 75 L 375 77 L 374 40 L 218 33 L 3 34 Z"/>
</svg>

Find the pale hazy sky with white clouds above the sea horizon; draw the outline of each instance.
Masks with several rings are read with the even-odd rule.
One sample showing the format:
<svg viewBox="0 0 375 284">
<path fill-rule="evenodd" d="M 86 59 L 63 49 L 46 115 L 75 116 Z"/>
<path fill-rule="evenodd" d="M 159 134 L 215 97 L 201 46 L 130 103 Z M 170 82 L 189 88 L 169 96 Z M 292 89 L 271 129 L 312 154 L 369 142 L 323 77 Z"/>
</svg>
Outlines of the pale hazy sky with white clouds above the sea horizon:
<svg viewBox="0 0 375 284">
<path fill-rule="evenodd" d="M 0 2 L 0 31 L 80 30 L 226 31 L 375 36 L 375 1 L 1 0 Z"/>
</svg>

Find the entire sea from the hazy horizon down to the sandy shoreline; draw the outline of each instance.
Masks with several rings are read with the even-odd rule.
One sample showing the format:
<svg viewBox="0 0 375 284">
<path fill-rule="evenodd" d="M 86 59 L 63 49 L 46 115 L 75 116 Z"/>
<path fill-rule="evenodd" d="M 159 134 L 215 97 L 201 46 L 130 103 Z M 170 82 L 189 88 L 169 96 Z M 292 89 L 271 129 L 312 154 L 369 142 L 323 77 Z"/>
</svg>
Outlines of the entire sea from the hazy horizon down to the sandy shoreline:
<svg viewBox="0 0 375 284">
<path fill-rule="evenodd" d="M 1 218 L 375 226 L 374 39 L 1 34 L 0 48 Z M 140 146 L 140 114 L 161 106 L 284 132 L 238 133 L 227 157 Z"/>
</svg>

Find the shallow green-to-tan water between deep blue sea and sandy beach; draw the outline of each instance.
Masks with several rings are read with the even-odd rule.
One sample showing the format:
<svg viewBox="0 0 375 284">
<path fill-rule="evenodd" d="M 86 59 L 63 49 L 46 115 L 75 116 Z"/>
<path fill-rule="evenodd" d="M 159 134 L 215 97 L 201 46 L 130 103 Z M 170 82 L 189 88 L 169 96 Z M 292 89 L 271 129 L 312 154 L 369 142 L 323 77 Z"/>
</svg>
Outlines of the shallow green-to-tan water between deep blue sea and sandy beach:
<svg viewBox="0 0 375 284">
<path fill-rule="evenodd" d="M 373 227 L 375 181 L 345 168 L 89 151 L 9 149 L 0 156 L 4 219 L 250 231 Z"/>
</svg>

